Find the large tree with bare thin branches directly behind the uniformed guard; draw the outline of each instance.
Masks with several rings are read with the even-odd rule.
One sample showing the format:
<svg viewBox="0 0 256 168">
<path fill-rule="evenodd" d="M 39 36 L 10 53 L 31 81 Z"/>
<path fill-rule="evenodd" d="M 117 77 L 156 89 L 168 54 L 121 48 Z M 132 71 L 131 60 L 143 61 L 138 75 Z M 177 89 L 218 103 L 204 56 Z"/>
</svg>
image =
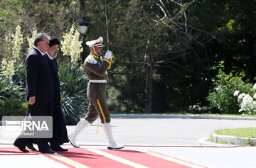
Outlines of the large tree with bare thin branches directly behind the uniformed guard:
<svg viewBox="0 0 256 168">
<path fill-rule="evenodd" d="M 189 85 L 185 83 L 186 76 L 200 79 L 193 72 L 191 62 L 201 62 L 196 53 L 190 55 L 196 52 L 191 46 L 196 43 L 204 47 L 207 40 L 214 38 L 210 33 L 188 25 L 188 9 L 196 2 L 107 2 L 110 47 L 117 53 L 110 72 L 110 84 L 120 91 L 117 99 L 127 111 L 162 113 L 170 108 L 167 104 L 181 100 L 184 104 L 188 99 L 181 89 L 186 90 Z M 89 38 L 102 35 L 106 39 L 107 35 L 102 31 L 105 29 L 104 3 L 92 2 L 86 6 L 87 16 L 93 21 L 91 30 L 94 30 Z M 96 26 L 100 26 L 101 31 Z M 198 34 L 203 34 L 205 40 L 198 39 Z M 184 83 L 183 88 L 178 88 L 181 83 Z M 171 97 L 174 92 L 181 99 L 176 101 Z M 182 103 L 179 106 L 183 106 Z"/>
</svg>

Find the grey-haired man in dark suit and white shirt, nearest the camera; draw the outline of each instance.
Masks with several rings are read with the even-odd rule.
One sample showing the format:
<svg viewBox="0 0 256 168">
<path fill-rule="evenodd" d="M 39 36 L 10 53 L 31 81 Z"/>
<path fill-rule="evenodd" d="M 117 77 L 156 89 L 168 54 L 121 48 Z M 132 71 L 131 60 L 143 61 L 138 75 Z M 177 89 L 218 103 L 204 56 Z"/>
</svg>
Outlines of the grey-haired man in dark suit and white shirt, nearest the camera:
<svg viewBox="0 0 256 168">
<path fill-rule="evenodd" d="M 28 116 L 53 116 L 55 108 L 55 80 L 45 52 L 49 47 L 50 37 L 46 33 L 38 33 L 34 47 L 26 57 L 26 99 L 28 100 Z M 23 152 L 26 145 L 36 141 L 39 151 L 54 153 L 48 145 L 47 138 L 17 138 L 14 146 Z M 32 146 L 33 147 L 33 146 Z"/>
</svg>

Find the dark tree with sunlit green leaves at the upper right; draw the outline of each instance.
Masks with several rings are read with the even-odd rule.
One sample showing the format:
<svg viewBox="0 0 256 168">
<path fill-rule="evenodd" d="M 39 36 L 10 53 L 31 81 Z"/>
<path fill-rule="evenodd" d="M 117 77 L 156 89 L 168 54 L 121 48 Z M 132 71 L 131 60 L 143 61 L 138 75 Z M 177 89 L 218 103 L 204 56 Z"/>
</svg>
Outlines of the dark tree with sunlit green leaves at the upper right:
<svg viewBox="0 0 256 168">
<path fill-rule="evenodd" d="M 207 30 L 215 35 L 203 48 L 193 45 L 198 55 L 203 56 L 203 68 L 193 66 L 200 73 L 201 87 L 198 89 L 198 102 L 208 106 L 207 96 L 218 71 L 211 67 L 225 61 L 225 73 L 242 77 L 245 82 L 252 82 L 255 77 L 255 1 L 210 1 L 191 7 L 188 23 L 196 28 Z M 200 35 L 201 39 L 203 36 Z M 191 53 L 193 54 L 193 53 Z"/>
</svg>

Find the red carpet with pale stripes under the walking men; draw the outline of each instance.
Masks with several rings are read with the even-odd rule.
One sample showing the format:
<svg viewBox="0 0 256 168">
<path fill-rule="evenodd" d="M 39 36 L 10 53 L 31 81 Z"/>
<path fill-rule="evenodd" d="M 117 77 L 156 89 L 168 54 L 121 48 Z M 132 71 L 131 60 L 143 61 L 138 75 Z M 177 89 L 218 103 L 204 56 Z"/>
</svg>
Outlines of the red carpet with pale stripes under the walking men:
<svg viewBox="0 0 256 168">
<path fill-rule="evenodd" d="M 158 154 L 151 151 L 136 150 L 97 150 L 69 148 L 68 152 L 57 152 L 53 155 L 41 152 L 24 153 L 16 147 L 0 147 L 0 155 L 43 155 L 55 162 L 68 167 L 100 167 L 100 168 L 126 168 L 126 167 L 157 167 L 157 168 L 203 168 L 199 165 Z"/>
</svg>

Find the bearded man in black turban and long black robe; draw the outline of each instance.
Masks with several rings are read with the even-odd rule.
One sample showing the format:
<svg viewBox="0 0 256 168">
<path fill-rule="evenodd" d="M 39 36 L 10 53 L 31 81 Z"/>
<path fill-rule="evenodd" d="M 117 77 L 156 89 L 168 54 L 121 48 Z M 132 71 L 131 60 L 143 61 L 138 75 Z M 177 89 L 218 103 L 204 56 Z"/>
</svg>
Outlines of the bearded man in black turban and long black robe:
<svg viewBox="0 0 256 168">
<path fill-rule="evenodd" d="M 60 108 L 60 80 L 58 76 L 58 64 L 55 57 L 58 55 L 58 45 L 60 41 L 57 38 L 50 39 L 49 48 L 46 55 L 48 56 L 48 62 L 50 63 L 50 68 L 53 72 L 53 77 L 55 80 L 55 110 L 53 113 L 53 138 L 50 139 L 50 148 L 54 151 L 68 151 L 68 149 L 63 149 L 60 145 L 68 142 L 68 133 L 65 125 L 65 120 L 63 117 L 63 112 Z"/>
</svg>

